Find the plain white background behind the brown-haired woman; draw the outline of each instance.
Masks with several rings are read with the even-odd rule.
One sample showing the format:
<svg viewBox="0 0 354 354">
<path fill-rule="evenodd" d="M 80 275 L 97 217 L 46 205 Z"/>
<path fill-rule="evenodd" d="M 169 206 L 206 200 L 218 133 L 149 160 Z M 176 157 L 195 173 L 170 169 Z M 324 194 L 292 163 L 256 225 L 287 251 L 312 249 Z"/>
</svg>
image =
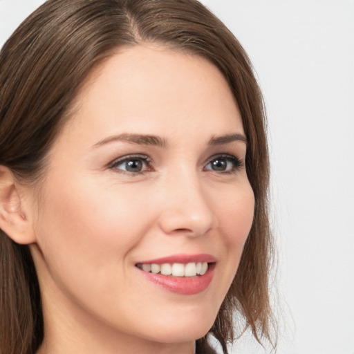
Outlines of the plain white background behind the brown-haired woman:
<svg viewBox="0 0 354 354">
<path fill-rule="evenodd" d="M 0 45 L 41 0 L 0 0 Z M 354 354 L 354 1 L 204 0 L 268 109 L 279 354 Z M 0 88 L 1 89 L 1 88 Z M 246 337 L 234 353 L 268 353 Z"/>
</svg>

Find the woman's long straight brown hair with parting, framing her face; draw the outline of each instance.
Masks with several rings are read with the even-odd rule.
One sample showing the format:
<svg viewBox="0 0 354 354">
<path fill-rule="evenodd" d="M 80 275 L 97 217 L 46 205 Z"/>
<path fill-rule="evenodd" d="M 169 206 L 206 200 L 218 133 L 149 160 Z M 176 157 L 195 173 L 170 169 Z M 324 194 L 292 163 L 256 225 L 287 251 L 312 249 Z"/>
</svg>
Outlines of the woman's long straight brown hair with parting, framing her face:
<svg viewBox="0 0 354 354">
<path fill-rule="evenodd" d="M 252 65 L 239 41 L 196 0 L 49 0 L 32 13 L 0 53 L 0 165 L 35 183 L 80 84 L 118 47 L 155 42 L 201 55 L 225 76 L 248 139 L 246 166 L 254 221 L 239 270 L 210 333 L 227 353 L 234 315 L 241 333 L 271 338 L 268 148 L 265 114 Z M 242 325 L 242 327 L 241 327 Z M 0 230 L 0 352 L 30 354 L 44 335 L 41 297 L 26 245 Z M 205 338 L 197 349 L 207 346 Z"/>
</svg>

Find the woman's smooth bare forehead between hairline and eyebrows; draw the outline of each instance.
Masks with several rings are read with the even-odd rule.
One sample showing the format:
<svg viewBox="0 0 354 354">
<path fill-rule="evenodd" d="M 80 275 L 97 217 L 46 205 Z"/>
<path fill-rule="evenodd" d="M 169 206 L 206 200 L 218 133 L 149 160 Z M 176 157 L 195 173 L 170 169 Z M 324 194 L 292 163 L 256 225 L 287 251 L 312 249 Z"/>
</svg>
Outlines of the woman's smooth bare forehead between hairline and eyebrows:
<svg viewBox="0 0 354 354">
<path fill-rule="evenodd" d="M 165 135 L 179 128 L 243 131 L 236 100 L 207 59 L 162 46 L 121 48 L 93 69 L 68 123 L 101 131 Z M 180 129 L 183 130 L 183 129 Z M 186 129 L 184 129 L 186 130 Z"/>
</svg>

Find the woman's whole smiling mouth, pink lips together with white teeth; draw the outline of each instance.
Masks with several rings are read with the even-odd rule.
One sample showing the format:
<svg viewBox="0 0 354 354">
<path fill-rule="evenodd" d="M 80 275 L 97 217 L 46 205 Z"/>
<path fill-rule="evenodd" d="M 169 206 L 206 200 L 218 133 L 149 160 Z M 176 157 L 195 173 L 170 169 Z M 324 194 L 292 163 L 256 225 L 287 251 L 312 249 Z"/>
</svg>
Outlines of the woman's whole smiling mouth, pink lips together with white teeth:
<svg viewBox="0 0 354 354">
<path fill-rule="evenodd" d="M 195 295 L 206 290 L 214 276 L 216 259 L 210 254 L 176 254 L 136 263 L 145 279 L 169 292 Z"/>
</svg>

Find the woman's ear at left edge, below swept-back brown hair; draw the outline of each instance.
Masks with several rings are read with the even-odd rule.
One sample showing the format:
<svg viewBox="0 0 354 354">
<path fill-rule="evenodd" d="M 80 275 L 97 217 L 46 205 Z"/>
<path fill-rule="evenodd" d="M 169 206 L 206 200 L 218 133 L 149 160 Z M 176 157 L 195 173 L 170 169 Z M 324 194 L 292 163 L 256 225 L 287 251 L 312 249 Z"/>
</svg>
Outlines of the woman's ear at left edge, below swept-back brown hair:
<svg viewBox="0 0 354 354">
<path fill-rule="evenodd" d="M 26 187 L 17 183 L 10 169 L 0 165 L 0 229 L 10 239 L 24 245 L 35 242 L 31 213 L 26 212 L 29 194 Z"/>
</svg>

